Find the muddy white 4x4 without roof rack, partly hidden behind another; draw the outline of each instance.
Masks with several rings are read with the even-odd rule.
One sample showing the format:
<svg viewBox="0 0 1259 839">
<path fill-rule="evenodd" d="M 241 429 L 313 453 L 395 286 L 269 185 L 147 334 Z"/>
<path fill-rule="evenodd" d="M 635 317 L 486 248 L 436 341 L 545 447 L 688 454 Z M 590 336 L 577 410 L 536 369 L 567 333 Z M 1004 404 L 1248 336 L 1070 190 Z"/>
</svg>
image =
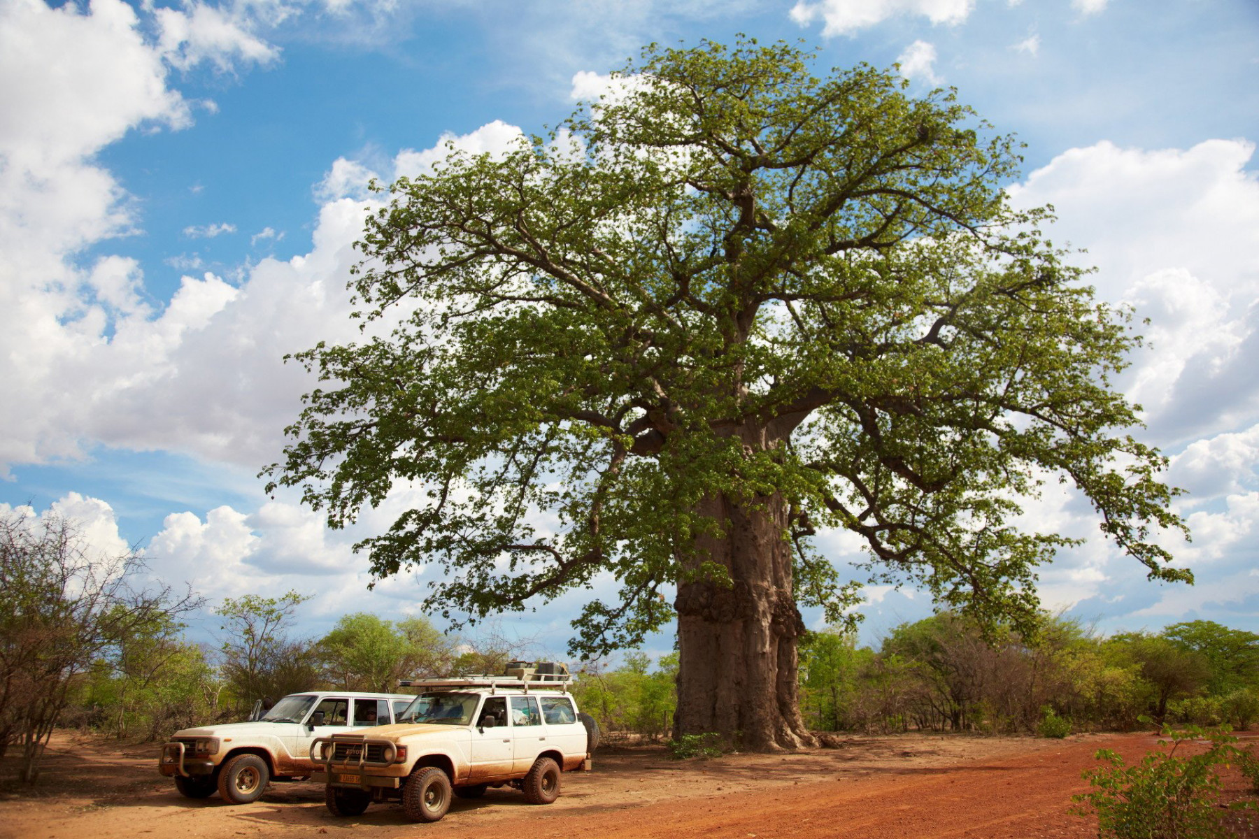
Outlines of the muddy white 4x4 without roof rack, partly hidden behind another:
<svg viewBox="0 0 1259 839">
<path fill-rule="evenodd" d="M 310 747 L 319 737 L 388 726 L 415 697 L 407 693 L 311 691 L 277 702 L 261 720 L 175 732 L 162 745 L 157 769 L 190 799 L 215 791 L 233 804 L 254 801 L 271 780 L 298 780 L 315 771 Z"/>
</svg>

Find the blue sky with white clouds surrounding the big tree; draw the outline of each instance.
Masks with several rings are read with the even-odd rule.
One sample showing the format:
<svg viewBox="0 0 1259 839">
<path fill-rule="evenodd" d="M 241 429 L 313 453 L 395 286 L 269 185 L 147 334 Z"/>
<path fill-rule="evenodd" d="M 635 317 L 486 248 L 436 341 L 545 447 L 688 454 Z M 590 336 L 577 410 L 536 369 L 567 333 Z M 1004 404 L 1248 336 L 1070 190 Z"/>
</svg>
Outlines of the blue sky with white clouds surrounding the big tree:
<svg viewBox="0 0 1259 839">
<path fill-rule="evenodd" d="M 1254 0 L 0 0 L 0 504 L 142 546 L 212 605 L 313 594 L 303 631 L 414 611 L 432 570 L 369 592 L 354 533 L 254 477 L 310 384 L 283 353 L 353 338 L 366 177 L 543 132 L 645 43 L 737 33 L 802 39 L 822 67 L 899 62 L 910 92 L 956 86 L 1019 135 L 1013 200 L 1054 204 L 1099 297 L 1149 318 L 1118 385 L 1187 491 L 1194 542 L 1168 546 L 1199 580 L 1146 582 L 1051 486 L 1026 525 L 1089 542 L 1044 571 L 1045 603 L 1107 631 L 1259 631 Z M 504 626 L 562 654 L 579 603 Z M 864 638 L 929 609 L 870 587 Z"/>
</svg>

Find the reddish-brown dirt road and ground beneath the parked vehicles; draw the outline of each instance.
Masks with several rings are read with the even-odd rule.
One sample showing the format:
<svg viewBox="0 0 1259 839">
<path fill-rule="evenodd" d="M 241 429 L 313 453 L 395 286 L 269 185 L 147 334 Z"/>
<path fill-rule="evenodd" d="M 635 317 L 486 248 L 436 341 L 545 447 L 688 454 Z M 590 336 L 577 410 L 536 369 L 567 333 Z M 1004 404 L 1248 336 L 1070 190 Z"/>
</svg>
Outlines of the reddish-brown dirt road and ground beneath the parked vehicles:
<svg viewBox="0 0 1259 839">
<path fill-rule="evenodd" d="M 519 792 L 491 790 L 478 801 L 456 800 L 441 823 L 417 825 L 397 805 L 335 819 L 324 808 L 322 787 L 308 782 L 273 784 L 246 806 L 217 796 L 190 801 L 157 776 L 152 746 L 120 753 L 107 741 L 58 736 L 40 790 L 0 795 L 0 836 L 1093 836 L 1095 823 L 1070 813 L 1070 796 L 1084 789 L 1080 772 L 1093 765 L 1093 752 L 1114 748 L 1133 760 L 1155 742 L 1151 735 L 1066 741 L 905 735 L 705 762 L 669 760 L 660 748 L 601 750 L 596 771 L 565 775 L 554 805 L 530 806 Z M 1226 787 L 1231 799 L 1244 795 L 1236 775 L 1226 775 Z"/>
</svg>

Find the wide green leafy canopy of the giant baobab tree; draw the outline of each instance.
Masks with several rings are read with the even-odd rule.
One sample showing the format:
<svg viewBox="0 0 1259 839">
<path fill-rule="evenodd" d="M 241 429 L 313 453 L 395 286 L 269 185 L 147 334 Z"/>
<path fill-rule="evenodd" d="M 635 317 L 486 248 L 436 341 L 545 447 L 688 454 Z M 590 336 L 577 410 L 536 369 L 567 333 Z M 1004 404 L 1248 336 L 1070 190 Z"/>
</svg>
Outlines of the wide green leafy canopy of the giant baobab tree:
<svg viewBox="0 0 1259 839">
<path fill-rule="evenodd" d="M 1109 389 L 1138 338 L 1047 209 L 1008 206 L 1016 143 L 952 91 L 812 62 L 648 47 L 549 136 L 400 179 L 351 281 L 364 325 L 395 326 L 296 356 L 325 386 L 271 489 L 340 527 L 423 488 L 358 547 L 378 576 L 439 564 L 446 616 L 611 575 L 582 653 L 661 626 L 680 577 L 723 580 L 686 561 L 724 527 L 696 513 L 715 494 L 787 501 L 797 596 L 832 618 L 851 590 L 818 528 L 862 537 L 874 577 L 1034 615 L 1035 569 L 1073 543 L 1012 523 L 1046 474 L 1151 577 L 1190 580 L 1152 538 L 1182 527 L 1165 459 Z"/>
</svg>

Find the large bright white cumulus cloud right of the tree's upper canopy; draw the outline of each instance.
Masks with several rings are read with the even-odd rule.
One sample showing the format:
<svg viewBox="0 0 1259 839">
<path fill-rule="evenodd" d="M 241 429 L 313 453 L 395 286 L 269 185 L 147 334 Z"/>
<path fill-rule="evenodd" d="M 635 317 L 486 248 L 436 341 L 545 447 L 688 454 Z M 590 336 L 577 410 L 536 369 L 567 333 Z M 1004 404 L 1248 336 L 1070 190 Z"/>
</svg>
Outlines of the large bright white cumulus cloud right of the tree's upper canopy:
<svg viewBox="0 0 1259 839">
<path fill-rule="evenodd" d="M 1147 438 L 1187 445 L 1259 419 L 1259 179 L 1254 145 L 1209 140 L 1147 151 L 1071 148 L 1011 187 L 1016 205 L 1053 204 L 1055 242 L 1103 299 L 1126 302 L 1148 345 L 1119 380 L 1146 408 Z M 1173 449 L 1175 450 L 1175 449 Z"/>
</svg>

